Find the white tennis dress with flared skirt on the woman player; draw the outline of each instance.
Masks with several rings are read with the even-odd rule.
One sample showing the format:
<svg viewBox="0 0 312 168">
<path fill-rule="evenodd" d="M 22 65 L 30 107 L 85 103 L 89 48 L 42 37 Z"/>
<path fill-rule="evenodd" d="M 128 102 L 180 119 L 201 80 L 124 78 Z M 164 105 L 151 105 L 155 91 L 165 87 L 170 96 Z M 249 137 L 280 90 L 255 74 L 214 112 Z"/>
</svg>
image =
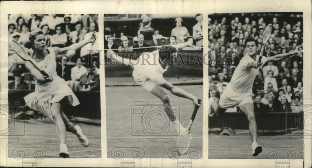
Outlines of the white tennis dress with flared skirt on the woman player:
<svg viewBox="0 0 312 168">
<path fill-rule="evenodd" d="M 56 55 L 52 48 L 47 48 L 50 54 L 44 60 L 38 62 L 39 68 L 50 74 L 53 81 L 49 83 L 38 83 L 35 80 L 35 92 L 24 97 L 26 105 L 31 109 L 40 111 L 49 119 L 53 120 L 51 114 L 51 104 L 65 99 L 72 106 L 79 105 L 79 100 L 63 78 L 56 74 Z"/>
</svg>

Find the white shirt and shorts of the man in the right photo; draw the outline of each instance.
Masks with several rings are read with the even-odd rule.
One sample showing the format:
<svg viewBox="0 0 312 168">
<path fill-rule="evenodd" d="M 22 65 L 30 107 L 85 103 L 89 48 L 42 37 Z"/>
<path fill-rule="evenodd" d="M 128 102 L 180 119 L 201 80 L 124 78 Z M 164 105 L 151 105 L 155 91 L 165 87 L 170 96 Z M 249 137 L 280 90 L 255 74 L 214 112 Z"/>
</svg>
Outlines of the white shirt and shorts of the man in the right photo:
<svg viewBox="0 0 312 168">
<path fill-rule="evenodd" d="M 259 60 L 259 55 L 256 56 L 256 60 Z M 253 103 L 251 98 L 252 85 L 259 68 L 266 63 L 267 58 L 262 56 L 262 65 L 259 68 L 247 68 L 247 64 L 253 61 L 255 60 L 248 54 L 241 58 L 230 83 L 225 87 L 220 97 L 219 105 L 222 108 L 228 109 L 235 105 L 240 106 L 245 103 Z"/>
</svg>

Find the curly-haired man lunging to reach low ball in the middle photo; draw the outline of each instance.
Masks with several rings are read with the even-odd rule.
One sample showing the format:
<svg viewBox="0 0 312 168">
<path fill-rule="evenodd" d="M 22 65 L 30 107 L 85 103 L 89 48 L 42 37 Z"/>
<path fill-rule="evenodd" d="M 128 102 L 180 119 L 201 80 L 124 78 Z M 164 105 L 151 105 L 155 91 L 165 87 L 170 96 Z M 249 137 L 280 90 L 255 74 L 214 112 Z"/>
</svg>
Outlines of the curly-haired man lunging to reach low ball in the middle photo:
<svg viewBox="0 0 312 168">
<path fill-rule="evenodd" d="M 173 113 L 169 95 L 165 89 L 169 90 L 173 95 L 192 100 L 193 106 L 200 106 L 195 96 L 182 90 L 181 88 L 178 88 L 177 86 L 173 86 L 163 78 L 163 73 L 167 71 L 169 66 L 172 66 L 171 63 L 173 63 L 173 61 L 177 60 L 177 51 L 183 49 L 184 47 L 194 46 L 190 42 L 177 44 L 175 47 L 163 46 L 161 49 L 155 50 L 151 53 L 142 53 L 138 60 L 122 58 L 115 54 L 112 50 L 107 51 L 109 58 L 118 61 L 119 63 L 128 65 L 133 69 L 132 76 L 138 85 L 153 93 L 163 101 L 164 110 L 173 122 L 178 134 L 185 133 L 186 129 L 180 124 L 176 114 Z"/>
</svg>

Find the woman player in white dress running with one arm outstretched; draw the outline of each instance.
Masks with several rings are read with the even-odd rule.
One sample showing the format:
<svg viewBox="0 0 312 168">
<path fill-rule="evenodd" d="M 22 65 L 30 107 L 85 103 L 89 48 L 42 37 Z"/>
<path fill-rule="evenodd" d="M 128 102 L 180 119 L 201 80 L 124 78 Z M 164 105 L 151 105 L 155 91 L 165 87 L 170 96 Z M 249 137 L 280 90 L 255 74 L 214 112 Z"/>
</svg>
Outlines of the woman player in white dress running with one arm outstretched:
<svg viewBox="0 0 312 168">
<path fill-rule="evenodd" d="M 26 62 L 25 67 L 35 79 L 35 92 L 24 97 L 26 104 L 33 110 L 40 111 L 56 125 L 56 133 L 60 140 L 60 157 L 69 158 L 66 146 L 66 131 L 74 133 L 84 147 L 89 146 L 88 139 L 82 134 L 78 125 L 74 126 L 63 112 L 63 105 L 68 103 L 72 106 L 79 104 L 79 100 L 72 92 L 65 80 L 56 74 L 56 55 L 66 53 L 68 50 L 80 49 L 88 43 L 94 42 L 96 36 L 72 44 L 64 48 L 46 48 L 46 37 L 41 30 L 32 31 L 25 47 L 32 48 L 31 57 L 37 62 L 39 68 L 49 76 L 43 76 L 31 63 Z"/>
</svg>

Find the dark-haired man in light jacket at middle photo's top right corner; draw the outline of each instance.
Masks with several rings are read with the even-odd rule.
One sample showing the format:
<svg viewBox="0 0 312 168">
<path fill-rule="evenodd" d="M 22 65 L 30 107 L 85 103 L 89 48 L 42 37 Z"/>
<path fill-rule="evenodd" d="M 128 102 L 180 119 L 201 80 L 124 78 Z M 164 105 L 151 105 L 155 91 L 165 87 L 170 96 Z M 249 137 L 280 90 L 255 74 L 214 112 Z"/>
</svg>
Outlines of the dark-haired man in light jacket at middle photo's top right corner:
<svg viewBox="0 0 312 168">
<path fill-rule="evenodd" d="M 195 16 L 197 23 L 193 26 L 193 39 L 195 40 L 196 47 L 201 47 L 203 42 L 202 35 L 202 14 L 197 13 Z"/>
</svg>

